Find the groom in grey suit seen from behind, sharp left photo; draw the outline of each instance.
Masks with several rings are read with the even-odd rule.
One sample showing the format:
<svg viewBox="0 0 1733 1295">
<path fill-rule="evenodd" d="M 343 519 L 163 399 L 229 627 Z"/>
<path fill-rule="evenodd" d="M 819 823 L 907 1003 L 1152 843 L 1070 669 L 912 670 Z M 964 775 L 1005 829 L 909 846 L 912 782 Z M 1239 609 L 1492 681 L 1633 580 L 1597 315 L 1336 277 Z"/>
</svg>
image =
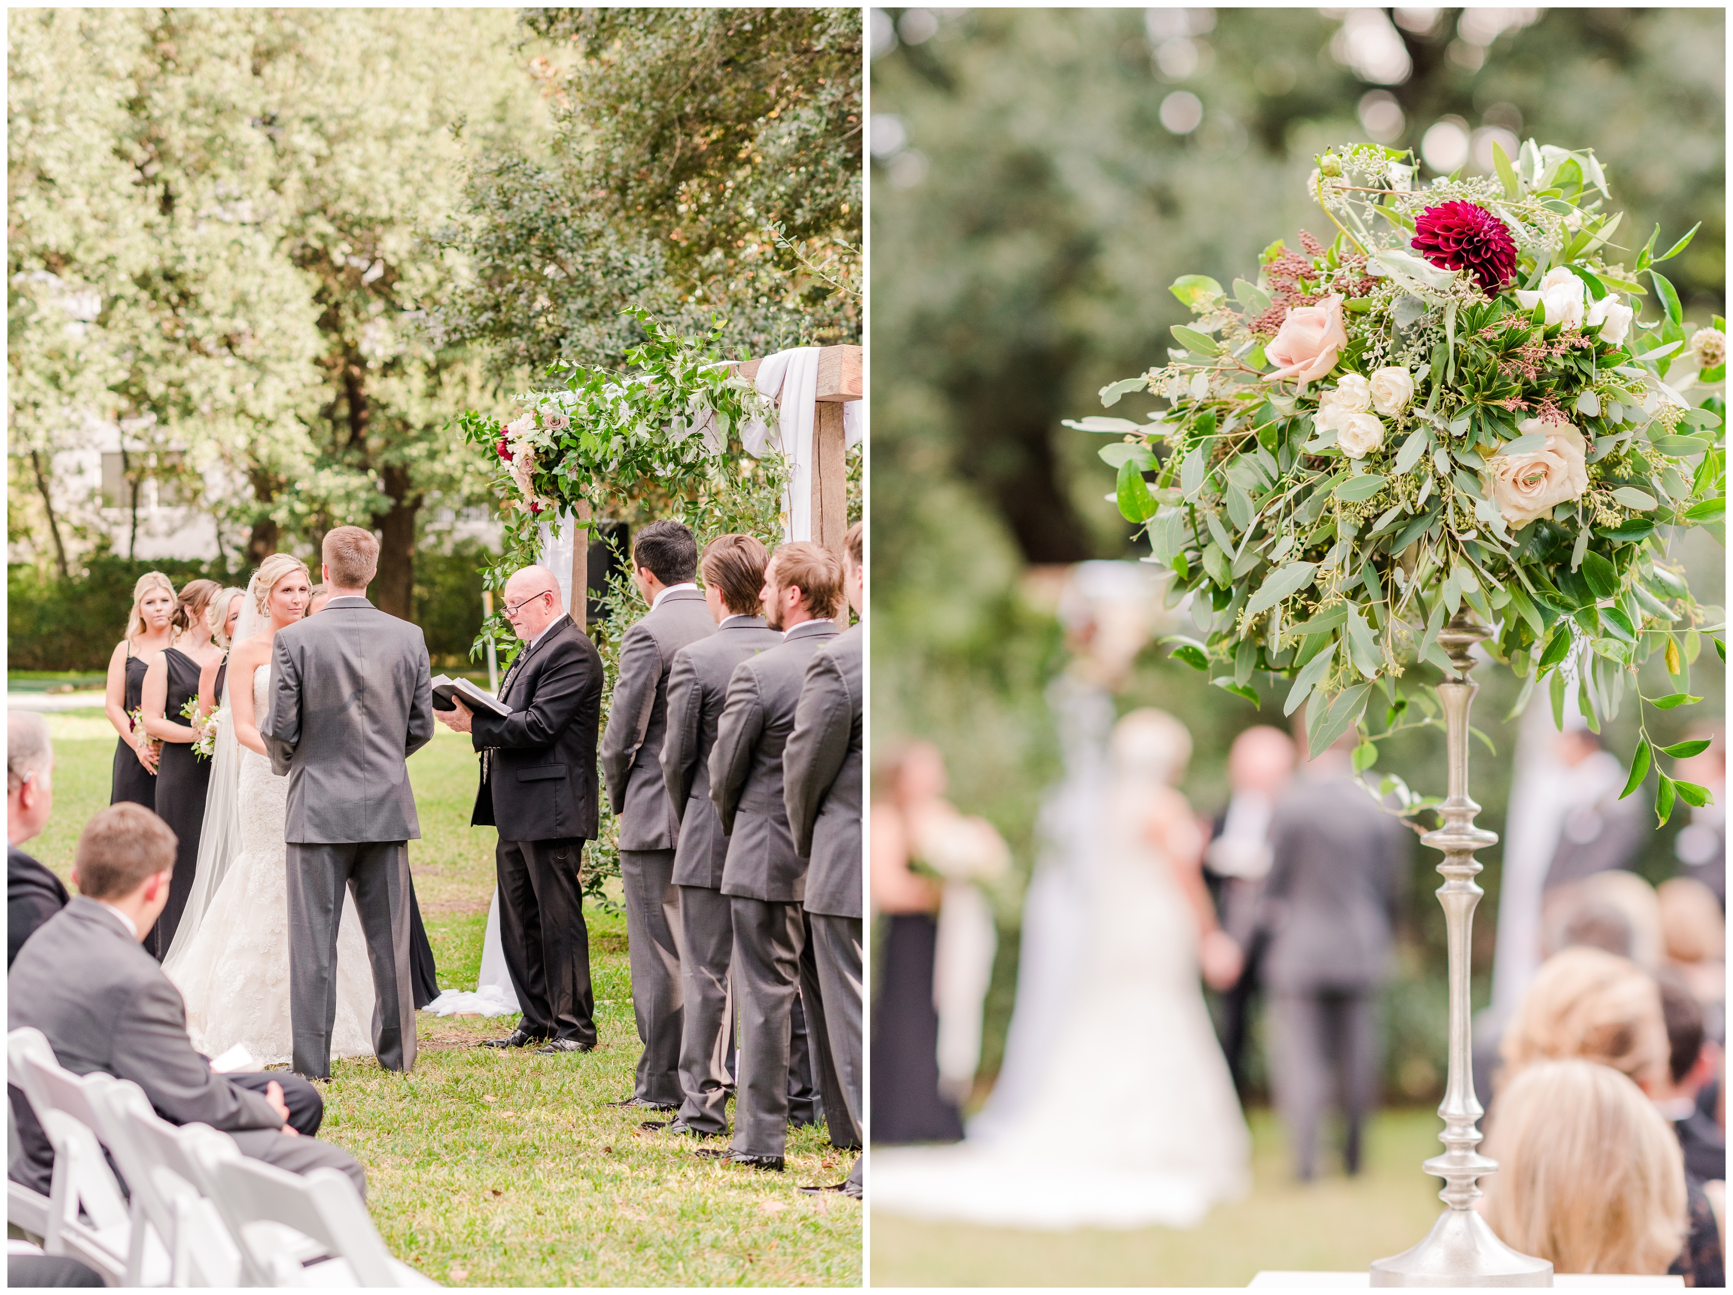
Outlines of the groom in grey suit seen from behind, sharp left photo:
<svg viewBox="0 0 1733 1295">
<path fill-rule="evenodd" d="M 367 601 L 380 542 L 338 526 L 322 545 L 331 601 L 277 630 L 270 715 L 260 736 L 289 776 L 289 1025 L 300 1075 L 331 1075 L 336 931 L 355 897 L 373 964 L 373 1049 L 416 1063 L 409 968 L 409 838 L 421 836 L 406 760 L 433 736 L 426 641 Z"/>
</svg>

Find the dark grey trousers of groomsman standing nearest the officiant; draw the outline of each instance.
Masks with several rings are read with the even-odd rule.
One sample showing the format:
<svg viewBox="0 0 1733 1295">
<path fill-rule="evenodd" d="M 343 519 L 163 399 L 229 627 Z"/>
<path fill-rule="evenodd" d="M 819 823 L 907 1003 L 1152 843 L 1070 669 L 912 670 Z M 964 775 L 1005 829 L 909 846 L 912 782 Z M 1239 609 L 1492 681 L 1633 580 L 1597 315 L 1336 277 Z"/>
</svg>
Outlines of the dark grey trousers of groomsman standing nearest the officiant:
<svg viewBox="0 0 1733 1295">
<path fill-rule="evenodd" d="M 633 970 L 633 1016 L 638 1041 L 638 1082 L 633 1096 L 676 1110 L 679 1091 L 679 886 L 672 850 L 620 850 L 626 888 L 627 961 Z"/>
</svg>

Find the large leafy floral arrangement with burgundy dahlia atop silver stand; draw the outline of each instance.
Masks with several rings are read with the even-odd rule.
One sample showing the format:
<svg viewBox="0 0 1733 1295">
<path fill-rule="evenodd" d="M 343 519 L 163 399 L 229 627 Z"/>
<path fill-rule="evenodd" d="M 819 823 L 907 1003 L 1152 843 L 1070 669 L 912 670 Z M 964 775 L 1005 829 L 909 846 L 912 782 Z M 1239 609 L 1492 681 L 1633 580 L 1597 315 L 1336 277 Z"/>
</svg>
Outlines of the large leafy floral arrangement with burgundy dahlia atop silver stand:
<svg viewBox="0 0 1733 1295">
<path fill-rule="evenodd" d="M 1416 185 L 1409 152 L 1324 152 L 1310 190 L 1333 241 L 1274 242 L 1230 291 L 1182 277 L 1194 320 L 1170 362 L 1102 390 L 1168 409 L 1068 422 L 1121 436 L 1100 452 L 1120 511 L 1203 632 L 1173 654 L 1251 701 L 1256 673 L 1291 679 L 1284 713 L 1310 699 L 1312 751 L 1359 731 L 1357 772 L 1379 738 L 1438 724 L 1400 680 L 1414 661 L 1454 670 L 1438 632 L 1464 609 L 1523 679 L 1518 708 L 1544 684 L 1561 724 L 1577 680 L 1596 732 L 1627 689 L 1697 701 L 1705 637 L 1726 656 L 1674 554 L 1688 526 L 1724 544 L 1726 322 L 1688 325 L 1657 268 L 1695 230 L 1655 254 L 1657 227 L 1627 268 L 1593 152 L 1530 140 L 1494 159 L 1494 177 Z M 1650 698 L 1655 656 L 1674 684 Z M 1705 803 L 1655 765 L 1705 744 L 1641 727 L 1626 795 L 1655 767 L 1662 821 Z M 1404 814 L 1438 803 L 1397 777 L 1378 791 Z"/>
</svg>

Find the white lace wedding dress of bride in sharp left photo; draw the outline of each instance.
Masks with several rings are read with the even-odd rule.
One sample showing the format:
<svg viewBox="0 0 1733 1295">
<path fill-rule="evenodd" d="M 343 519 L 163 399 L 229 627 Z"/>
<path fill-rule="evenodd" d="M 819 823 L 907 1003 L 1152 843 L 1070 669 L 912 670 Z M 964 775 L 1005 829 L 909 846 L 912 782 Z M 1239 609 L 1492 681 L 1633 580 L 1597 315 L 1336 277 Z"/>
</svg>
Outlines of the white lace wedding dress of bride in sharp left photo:
<svg viewBox="0 0 1733 1295">
<path fill-rule="evenodd" d="M 263 715 L 270 667 L 253 672 L 253 713 Z M 237 854 L 199 918 L 192 938 L 170 950 L 163 971 L 187 1001 L 187 1034 L 206 1056 L 236 1044 L 253 1063 L 293 1056 L 289 1027 L 289 888 L 284 821 L 289 779 L 270 760 L 239 746 Z M 178 942 L 177 942 L 178 945 Z M 373 970 L 355 900 L 343 897 L 336 940 L 333 1056 L 373 1056 Z"/>
</svg>

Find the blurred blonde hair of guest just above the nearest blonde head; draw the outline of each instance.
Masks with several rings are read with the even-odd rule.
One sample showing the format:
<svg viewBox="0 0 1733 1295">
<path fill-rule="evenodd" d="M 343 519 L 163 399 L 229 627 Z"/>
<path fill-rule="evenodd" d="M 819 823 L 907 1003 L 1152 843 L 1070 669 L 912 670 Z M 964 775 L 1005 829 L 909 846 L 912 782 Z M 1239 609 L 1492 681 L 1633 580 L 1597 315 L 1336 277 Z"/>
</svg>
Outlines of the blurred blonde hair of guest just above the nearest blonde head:
<svg viewBox="0 0 1733 1295">
<path fill-rule="evenodd" d="M 1541 964 L 1499 1053 L 1501 1082 L 1537 1061 L 1565 1058 L 1600 1061 L 1638 1084 L 1657 1082 L 1667 1073 L 1660 989 L 1629 957 L 1587 945 L 1561 949 Z"/>
</svg>

